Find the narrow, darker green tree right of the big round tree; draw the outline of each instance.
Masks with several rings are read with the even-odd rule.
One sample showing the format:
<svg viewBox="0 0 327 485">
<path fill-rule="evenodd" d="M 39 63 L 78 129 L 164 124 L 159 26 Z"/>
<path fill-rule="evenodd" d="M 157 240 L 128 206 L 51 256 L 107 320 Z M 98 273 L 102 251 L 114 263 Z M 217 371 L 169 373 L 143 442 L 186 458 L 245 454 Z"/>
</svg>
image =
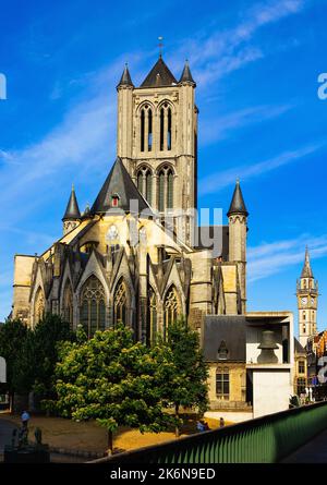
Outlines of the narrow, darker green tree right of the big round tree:
<svg viewBox="0 0 327 485">
<path fill-rule="evenodd" d="M 199 415 L 208 409 L 208 367 L 199 347 L 198 334 L 181 318 L 169 325 L 167 340 L 159 340 L 171 360 L 170 376 L 162 386 L 162 400 L 173 407 L 175 422 L 181 423 L 180 408 L 196 408 Z M 180 434 L 179 424 L 175 436 Z"/>
</svg>

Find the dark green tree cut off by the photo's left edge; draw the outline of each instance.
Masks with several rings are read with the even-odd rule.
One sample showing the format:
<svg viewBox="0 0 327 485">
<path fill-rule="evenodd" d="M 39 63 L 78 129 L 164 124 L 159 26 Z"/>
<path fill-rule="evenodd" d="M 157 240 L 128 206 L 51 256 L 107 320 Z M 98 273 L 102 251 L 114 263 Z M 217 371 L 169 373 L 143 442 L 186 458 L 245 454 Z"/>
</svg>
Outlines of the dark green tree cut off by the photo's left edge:
<svg viewBox="0 0 327 485">
<path fill-rule="evenodd" d="M 29 330 L 21 320 L 7 320 L 0 326 L 0 355 L 7 363 L 7 381 L 12 407 L 15 391 L 14 368 L 25 345 Z"/>
</svg>

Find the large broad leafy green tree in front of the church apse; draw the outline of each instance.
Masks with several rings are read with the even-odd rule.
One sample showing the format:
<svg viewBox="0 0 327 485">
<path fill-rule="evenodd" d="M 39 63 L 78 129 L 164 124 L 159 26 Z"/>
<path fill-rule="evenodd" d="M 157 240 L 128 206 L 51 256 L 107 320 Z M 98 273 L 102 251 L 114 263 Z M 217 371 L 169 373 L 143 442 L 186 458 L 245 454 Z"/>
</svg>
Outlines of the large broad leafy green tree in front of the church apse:
<svg viewBox="0 0 327 485">
<path fill-rule="evenodd" d="M 98 331 L 90 340 L 62 345 L 58 400 L 49 405 L 65 417 L 97 420 L 108 431 L 112 453 L 119 426 L 159 433 L 173 422 L 160 401 L 165 368 L 170 366 L 160 349 L 135 343 L 132 330 L 123 325 Z"/>
</svg>

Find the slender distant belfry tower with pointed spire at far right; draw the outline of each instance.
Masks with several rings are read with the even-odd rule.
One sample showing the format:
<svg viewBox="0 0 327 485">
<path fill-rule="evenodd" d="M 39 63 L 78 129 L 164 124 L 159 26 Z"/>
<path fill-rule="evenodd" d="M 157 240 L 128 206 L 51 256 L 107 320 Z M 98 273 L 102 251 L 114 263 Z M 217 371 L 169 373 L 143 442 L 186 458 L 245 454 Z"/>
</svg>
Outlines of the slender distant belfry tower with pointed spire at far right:
<svg viewBox="0 0 327 485">
<path fill-rule="evenodd" d="M 317 334 L 318 281 L 314 279 L 310 263 L 308 250 L 305 250 L 305 259 L 301 278 L 296 284 L 299 308 L 299 337 L 302 347 Z"/>
</svg>

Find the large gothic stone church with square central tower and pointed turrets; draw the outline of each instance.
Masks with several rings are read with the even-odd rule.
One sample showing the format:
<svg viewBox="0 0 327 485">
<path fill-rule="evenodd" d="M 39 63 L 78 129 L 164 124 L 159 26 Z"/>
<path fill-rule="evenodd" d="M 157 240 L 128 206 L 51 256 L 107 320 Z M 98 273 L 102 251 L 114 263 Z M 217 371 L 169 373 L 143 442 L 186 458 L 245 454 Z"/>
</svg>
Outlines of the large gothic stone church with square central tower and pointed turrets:
<svg viewBox="0 0 327 485">
<path fill-rule="evenodd" d="M 195 88 L 187 63 L 178 81 L 160 56 L 138 87 L 125 66 L 117 159 L 83 214 L 72 189 L 58 241 L 39 256 L 15 256 L 14 318 L 34 327 L 44 313 L 60 314 L 88 336 L 122 320 L 150 342 L 178 315 L 199 329 L 205 315 L 245 313 L 247 211 L 239 182 L 228 226 L 201 227 L 194 217 Z"/>
</svg>

